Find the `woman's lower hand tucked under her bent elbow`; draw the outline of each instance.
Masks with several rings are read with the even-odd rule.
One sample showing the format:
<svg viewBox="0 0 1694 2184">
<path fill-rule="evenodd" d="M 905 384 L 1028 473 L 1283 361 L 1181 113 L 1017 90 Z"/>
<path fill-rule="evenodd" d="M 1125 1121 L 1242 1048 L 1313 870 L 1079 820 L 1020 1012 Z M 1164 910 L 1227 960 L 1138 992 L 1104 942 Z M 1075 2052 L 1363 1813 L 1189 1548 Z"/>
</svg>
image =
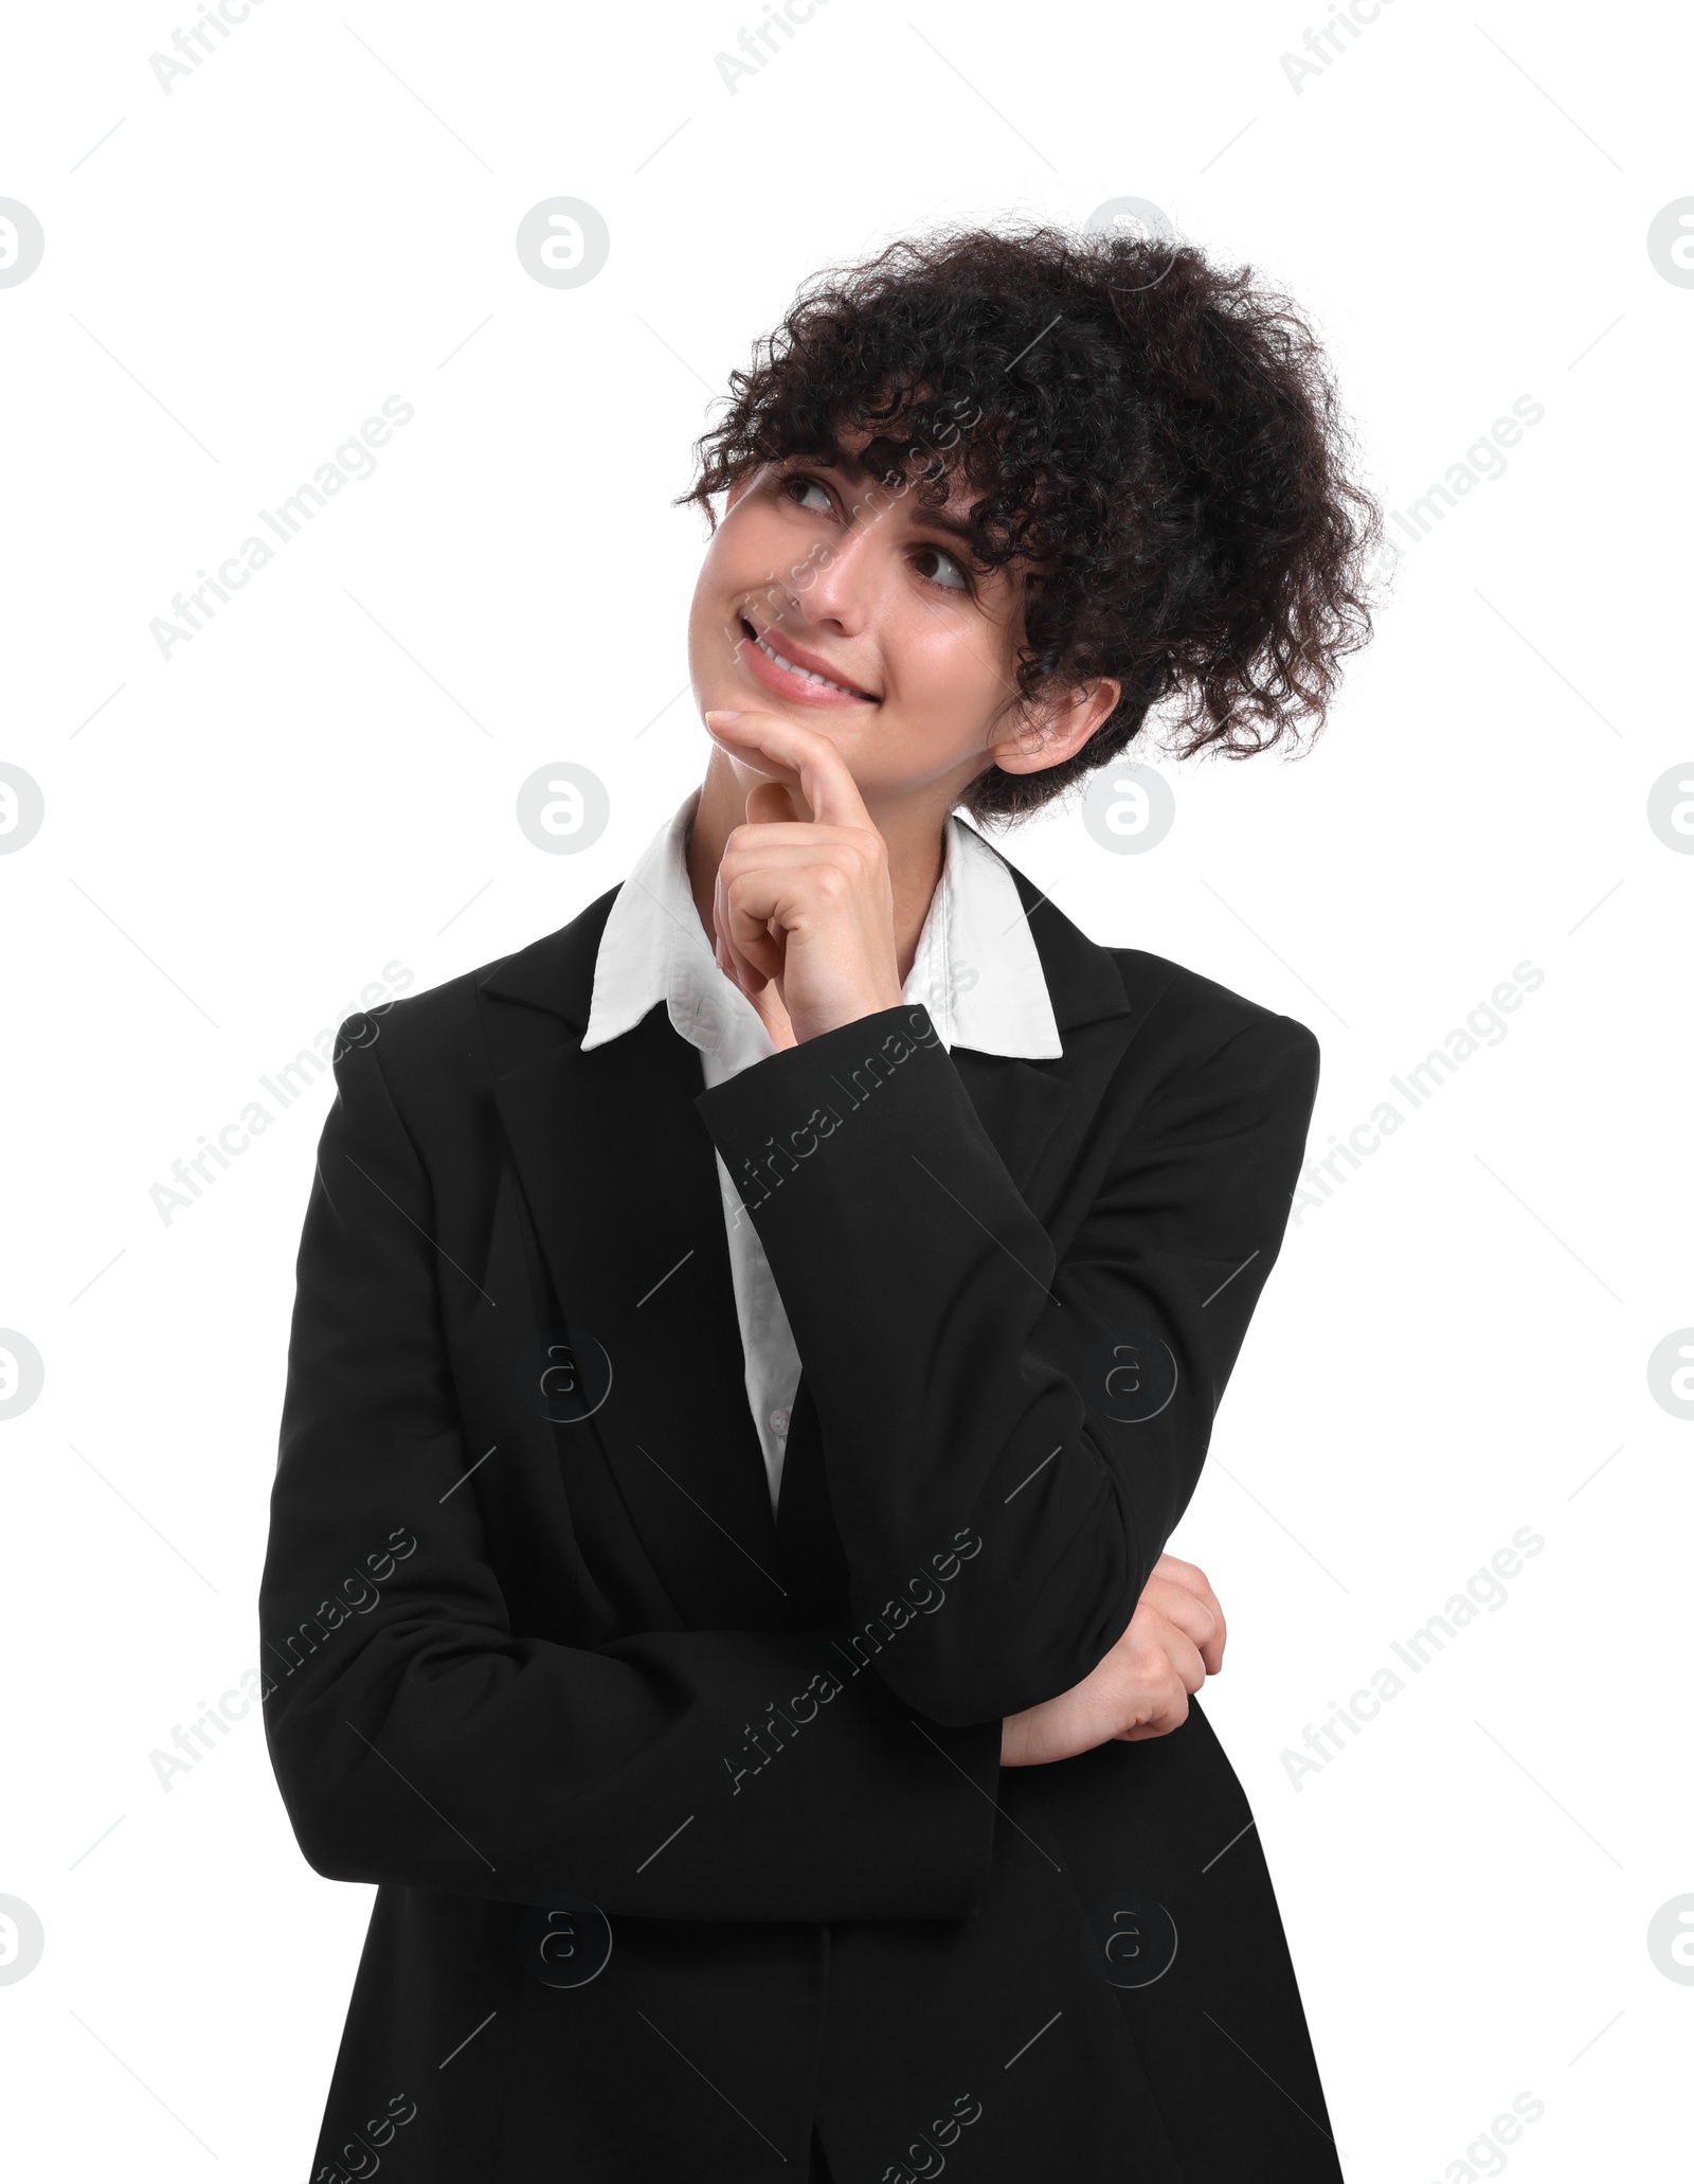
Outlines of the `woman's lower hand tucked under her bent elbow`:
<svg viewBox="0 0 1694 2184">
<path fill-rule="evenodd" d="M 1002 1767 L 1043 1767 L 1096 1745 L 1168 1736 L 1188 1721 L 1188 1695 L 1222 1669 L 1225 1621 L 1205 1570 L 1174 1555 L 1153 1564 L 1129 1629 L 1072 1690 L 1000 1728 Z"/>
</svg>

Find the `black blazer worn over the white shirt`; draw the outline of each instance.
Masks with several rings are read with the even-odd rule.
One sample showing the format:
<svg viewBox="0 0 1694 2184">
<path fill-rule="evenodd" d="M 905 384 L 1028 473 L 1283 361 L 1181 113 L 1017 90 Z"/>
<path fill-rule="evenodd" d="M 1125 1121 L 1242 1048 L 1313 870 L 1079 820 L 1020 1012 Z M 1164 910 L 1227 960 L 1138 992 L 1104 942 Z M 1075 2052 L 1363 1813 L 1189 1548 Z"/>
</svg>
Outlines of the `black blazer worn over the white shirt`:
<svg viewBox="0 0 1694 2184">
<path fill-rule="evenodd" d="M 1340 2175 L 1203 1710 L 998 1765 L 1194 1492 L 1316 1040 L 1015 878 L 1059 1061 L 583 1055 L 616 889 L 343 1024 L 260 1599 L 295 1835 L 378 1885 L 314 2184 Z"/>
</svg>

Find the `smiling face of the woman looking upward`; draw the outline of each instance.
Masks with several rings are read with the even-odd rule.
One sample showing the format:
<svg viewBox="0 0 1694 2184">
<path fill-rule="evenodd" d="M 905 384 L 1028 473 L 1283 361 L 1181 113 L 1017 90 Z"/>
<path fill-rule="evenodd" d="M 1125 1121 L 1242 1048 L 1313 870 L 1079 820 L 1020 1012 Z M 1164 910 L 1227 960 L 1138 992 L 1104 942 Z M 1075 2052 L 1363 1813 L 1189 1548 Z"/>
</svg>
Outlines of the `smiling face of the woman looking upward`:
<svg viewBox="0 0 1694 2184">
<path fill-rule="evenodd" d="M 954 483 L 934 509 L 915 489 L 801 459 L 738 485 L 690 614 L 701 712 L 803 721 L 838 745 L 871 806 L 932 795 L 945 808 L 1006 756 L 1015 771 L 1070 756 L 1116 686 L 1091 686 L 1091 712 L 1081 692 L 1057 708 L 1050 756 L 1026 749 L 1037 738 L 1015 708 L 1022 577 L 974 561 L 969 500 Z M 1078 710 L 1087 716 L 1072 719 Z"/>
</svg>

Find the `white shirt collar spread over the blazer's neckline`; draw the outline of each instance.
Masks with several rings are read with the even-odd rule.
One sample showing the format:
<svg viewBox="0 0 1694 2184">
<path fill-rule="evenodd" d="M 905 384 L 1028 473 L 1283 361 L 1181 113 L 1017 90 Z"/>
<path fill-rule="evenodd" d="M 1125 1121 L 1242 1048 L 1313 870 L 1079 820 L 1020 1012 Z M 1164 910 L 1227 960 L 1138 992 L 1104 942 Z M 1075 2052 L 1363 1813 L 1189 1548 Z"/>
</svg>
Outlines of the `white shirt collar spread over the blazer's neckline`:
<svg viewBox="0 0 1694 2184">
<path fill-rule="evenodd" d="M 718 970 L 688 885 L 694 788 L 618 889 L 594 959 L 583 1051 L 633 1031 L 664 1000 L 677 1033 L 707 1053 L 775 1053 L 751 1000 Z M 1054 1061 L 1063 1055 L 1048 981 L 1004 860 L 963 819 L 947 843 L 904 1000 L 930 1011 L 943 1046 Z"/>
</svg>

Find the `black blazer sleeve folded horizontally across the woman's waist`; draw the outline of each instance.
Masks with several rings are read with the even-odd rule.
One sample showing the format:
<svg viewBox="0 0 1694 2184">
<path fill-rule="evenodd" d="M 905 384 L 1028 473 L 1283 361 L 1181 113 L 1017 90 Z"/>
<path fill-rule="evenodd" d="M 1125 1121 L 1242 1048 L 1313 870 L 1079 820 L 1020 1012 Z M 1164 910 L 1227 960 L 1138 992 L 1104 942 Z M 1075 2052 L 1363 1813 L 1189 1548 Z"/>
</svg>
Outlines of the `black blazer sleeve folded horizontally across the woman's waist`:
<svg viewBox="0 0 1694 2184">
<path fill-rule="evenodd" d="M 306 1859 L 336 1880 L 642 1918 L 967 1915 L 1000 1723 L 915 1719 L 832 1647 L 847 1625 L 596 1649 L 511 1627 L 467 1479 L 428 1175 L 375 1051 L 338 1046 L 260 1588 L 266 1741 Z M 367 1566 L 371 1583 L 341 1583 Z"/>
</svg>

